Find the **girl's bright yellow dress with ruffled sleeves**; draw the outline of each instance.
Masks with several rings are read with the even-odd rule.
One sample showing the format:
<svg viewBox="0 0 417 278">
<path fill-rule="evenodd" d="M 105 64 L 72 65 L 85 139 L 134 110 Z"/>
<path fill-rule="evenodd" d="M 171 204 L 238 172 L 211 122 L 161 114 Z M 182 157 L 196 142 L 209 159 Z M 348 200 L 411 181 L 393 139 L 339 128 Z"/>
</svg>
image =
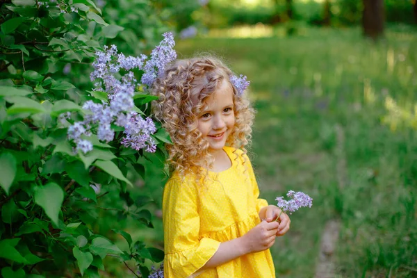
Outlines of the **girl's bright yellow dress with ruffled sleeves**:
<svg viewBox="0 0 417 278">
<path fill-rule="evenodd" d="M 240 149 L 224 147 L 224 151 L 232 165 L 223 172 L 208 172 L 206 190 L 197 188 L 195 176 L 181 178 L 175 173 L 165 185 L 165 278 L 275 277 L 270 250 L 240 256 L 201 274 L 197 271 L 220 243 L 243 236 L 259 224 L 258 212 L 268 206 L 259 199 L 249 158 Z"/>
</svg>

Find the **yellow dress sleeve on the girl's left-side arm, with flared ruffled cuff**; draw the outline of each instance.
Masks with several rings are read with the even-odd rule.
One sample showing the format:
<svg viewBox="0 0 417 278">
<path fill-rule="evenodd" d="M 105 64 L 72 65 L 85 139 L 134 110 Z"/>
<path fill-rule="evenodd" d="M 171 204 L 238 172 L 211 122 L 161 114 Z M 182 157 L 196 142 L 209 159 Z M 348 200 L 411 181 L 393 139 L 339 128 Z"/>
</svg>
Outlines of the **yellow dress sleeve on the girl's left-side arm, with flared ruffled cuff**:
<svg viewBox="0 0 417 278">
<path fill-rule="evenodd" d="M 163 192 L 164 277 L 190 277 L 217 252 L 220 242 L 199 238 L 199 226 L 197 188 L 168 181 Z"/>
</svg>

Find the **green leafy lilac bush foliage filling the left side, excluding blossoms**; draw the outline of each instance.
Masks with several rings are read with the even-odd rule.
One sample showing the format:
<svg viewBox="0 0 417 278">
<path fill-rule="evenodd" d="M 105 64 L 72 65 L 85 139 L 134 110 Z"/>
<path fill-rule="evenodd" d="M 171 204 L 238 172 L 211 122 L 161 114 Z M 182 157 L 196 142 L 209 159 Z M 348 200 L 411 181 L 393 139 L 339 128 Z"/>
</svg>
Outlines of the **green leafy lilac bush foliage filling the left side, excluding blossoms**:
<svg viewBox="0 0 417 278">
<path fill-rule="evenodd" d="M 70 122 L 80 120 L 82 104 L 102 97 L 87 93 L 96 51 L 120 44 L 126 56 L 138 55 L 168 29 L 151 1 L 98 3 L 1 2 L 0 268 L 5 278 L 99 277 L 113 271 L 104 268 L 106 256 L 124 265 L 114 270 L 147 277 L 149 262 L 163 260 L 162 250 L 124 231 L 129 221 L 153 228 L 145 208 L 153 199 L 131 191 L 145 182 L 149 165 L 163 172 L 160 147 L 168 142 L 163 131 L 155 154 L 104 144 L 94 136 L 92 152 L 74 154 L 60 116 L 70 113 Z M 147 115 L 150 100 L 136 101 Z M 117 238 L 126 243 L 118 247 Z"/>
</svg>

